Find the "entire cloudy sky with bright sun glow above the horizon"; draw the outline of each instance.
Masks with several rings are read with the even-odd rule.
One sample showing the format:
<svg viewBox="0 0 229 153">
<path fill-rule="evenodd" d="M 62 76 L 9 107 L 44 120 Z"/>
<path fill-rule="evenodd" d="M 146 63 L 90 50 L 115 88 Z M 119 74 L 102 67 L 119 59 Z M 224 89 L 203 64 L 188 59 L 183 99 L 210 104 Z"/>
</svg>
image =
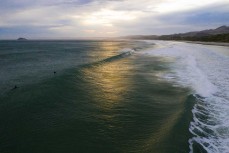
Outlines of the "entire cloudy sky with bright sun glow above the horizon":
<svg viewBox="0 0 229 153">
<path fill-rule="evenodd" d="M 229 0 L 0 0 L 0 39 L 172 34 L 229 25 Z"/>
</svg>

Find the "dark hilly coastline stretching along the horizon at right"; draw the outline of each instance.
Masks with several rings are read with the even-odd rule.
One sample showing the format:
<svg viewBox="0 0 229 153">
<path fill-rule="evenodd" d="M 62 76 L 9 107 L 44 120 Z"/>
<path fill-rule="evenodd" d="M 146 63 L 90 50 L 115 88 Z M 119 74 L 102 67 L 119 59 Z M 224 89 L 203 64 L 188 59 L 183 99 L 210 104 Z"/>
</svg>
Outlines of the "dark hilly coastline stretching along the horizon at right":
<svg viewBox="0 0 229 153">
<path fill-rule="evenodd" d="M 229 42 L 229 26 L 221 26 L 216 29 L 194 31 L 171 35 L 131 35 L 124 36 L 127 39 L 147 39 L 147 40 L 185 40 L 185 41 L 205 41 L 205 42 Z"/>
</svg>

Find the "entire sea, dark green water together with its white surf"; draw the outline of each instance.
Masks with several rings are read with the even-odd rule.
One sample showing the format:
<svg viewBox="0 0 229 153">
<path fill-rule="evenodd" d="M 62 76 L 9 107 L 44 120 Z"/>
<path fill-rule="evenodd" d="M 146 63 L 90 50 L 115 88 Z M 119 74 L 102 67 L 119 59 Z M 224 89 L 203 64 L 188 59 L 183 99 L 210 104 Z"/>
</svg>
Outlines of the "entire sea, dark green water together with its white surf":
<svg viewBox="0 0 229 153">
<path fill-rule="evenodd" d="M 229 50 L 0 41 L 1 153 L 227 153 Z"/>
</svg>

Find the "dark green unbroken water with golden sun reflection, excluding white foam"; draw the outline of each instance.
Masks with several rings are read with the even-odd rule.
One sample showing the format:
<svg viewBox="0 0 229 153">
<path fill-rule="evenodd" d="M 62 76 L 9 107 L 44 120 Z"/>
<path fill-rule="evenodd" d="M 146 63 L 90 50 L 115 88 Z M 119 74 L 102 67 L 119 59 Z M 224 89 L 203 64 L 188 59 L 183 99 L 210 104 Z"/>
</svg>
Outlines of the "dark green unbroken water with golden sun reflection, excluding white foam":
<svg viewBox="0 0 229 153">
<path fill-rule="evenodd" d="M 0 152 L 189 152 L 195 97 L 160 79 L 170 61 L 138 54 L 153 47 L 1 41 Z"/>
</svg>

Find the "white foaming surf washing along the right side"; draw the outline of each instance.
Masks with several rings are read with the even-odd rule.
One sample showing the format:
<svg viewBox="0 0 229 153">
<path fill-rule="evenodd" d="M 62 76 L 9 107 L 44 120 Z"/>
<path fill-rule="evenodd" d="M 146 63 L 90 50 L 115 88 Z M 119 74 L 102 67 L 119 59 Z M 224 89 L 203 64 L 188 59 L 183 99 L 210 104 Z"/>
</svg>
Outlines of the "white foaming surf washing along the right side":
<svg viewBox="0 0 229 153">
<path fill-rule="evenodd" d="M 144 54 L 172 59 L 172 72 L 164 79 L 190 87 L 197 99 L 192 113 L 189 140 L 209 153 L 229 152 L 229 56 L 225 47 L 155 41 L 157 48 Z"/>
</svg>

